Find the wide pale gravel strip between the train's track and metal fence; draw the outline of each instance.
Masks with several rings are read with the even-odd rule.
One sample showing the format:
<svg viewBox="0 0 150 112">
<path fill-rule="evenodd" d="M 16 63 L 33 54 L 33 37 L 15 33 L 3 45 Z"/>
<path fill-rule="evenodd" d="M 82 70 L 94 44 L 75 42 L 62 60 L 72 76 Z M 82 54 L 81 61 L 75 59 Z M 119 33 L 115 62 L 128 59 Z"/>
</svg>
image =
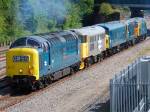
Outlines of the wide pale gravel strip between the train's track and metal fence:
<svg viewBox="0 0 150 112">
<path fill-rule="evenodd" d="M 150 40 L 80 71 L 55 87 L 16 104 L 8 112 L 82 112 L 108 95 L 109 80 L 138 56 L 150 50 Z M 107 95 L 106 95 L 107 94 Z"/>
</svg>

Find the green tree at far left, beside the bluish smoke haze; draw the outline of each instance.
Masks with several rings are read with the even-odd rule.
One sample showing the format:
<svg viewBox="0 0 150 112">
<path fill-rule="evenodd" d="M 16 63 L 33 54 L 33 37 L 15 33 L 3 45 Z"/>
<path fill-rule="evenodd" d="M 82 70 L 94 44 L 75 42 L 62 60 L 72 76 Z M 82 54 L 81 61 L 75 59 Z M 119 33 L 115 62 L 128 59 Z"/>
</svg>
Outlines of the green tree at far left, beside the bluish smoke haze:
<svg viewBox="0 0 150 112">
<path fill-rule="evenodd" d="M 26 34 L 24 26 L 18 21 L 19 0 L 0 0 L 0 6 L 0 29 L 3 32 L 0 38 L 14 40 Z"/>
</svg>

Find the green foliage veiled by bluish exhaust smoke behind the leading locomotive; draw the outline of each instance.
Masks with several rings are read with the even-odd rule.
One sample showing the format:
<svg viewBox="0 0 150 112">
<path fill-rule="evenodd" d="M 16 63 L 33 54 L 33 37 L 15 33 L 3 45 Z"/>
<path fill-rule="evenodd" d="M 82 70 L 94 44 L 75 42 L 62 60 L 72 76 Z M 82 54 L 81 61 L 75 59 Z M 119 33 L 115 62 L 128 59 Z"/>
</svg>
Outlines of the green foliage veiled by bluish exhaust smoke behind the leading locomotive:
<svg viewBox="0 0 150 112">
<path fill-rule="evenodd" d="M 0 42 L 79 28 L 93 7 L 94 0 L 0 0 Z"/>
</svg>

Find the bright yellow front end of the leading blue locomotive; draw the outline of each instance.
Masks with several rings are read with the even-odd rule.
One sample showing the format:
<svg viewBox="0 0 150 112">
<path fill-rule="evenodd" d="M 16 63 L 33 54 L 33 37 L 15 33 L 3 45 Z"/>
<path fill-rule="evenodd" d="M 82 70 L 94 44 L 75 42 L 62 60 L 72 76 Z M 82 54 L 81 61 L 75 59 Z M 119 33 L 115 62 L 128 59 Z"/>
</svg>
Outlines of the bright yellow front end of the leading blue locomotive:
<svg viewBox="0 0 150 112">
<path fill-rule="evenodd" d="M 39 55 L 34 48 L 12 48 L 6 53 L 7 77 L 39 79 Z"/>
</svg>

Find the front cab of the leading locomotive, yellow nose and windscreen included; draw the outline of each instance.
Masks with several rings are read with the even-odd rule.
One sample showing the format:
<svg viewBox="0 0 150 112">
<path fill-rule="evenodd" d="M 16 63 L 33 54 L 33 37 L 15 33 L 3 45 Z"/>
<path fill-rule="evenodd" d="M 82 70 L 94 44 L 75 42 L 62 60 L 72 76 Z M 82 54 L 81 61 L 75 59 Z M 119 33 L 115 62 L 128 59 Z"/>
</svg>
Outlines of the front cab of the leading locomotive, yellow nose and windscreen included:
<svg viewBox="0 0 150 112">
<path fill-rule="evenodd" d="M 39 80 L 40 60 L 45 52 L 41 43 L 35 37 L 25 37 L 10 46 L 6 53 L 6 73 L 11 81 L 21 85 Z"/>
</svg>

